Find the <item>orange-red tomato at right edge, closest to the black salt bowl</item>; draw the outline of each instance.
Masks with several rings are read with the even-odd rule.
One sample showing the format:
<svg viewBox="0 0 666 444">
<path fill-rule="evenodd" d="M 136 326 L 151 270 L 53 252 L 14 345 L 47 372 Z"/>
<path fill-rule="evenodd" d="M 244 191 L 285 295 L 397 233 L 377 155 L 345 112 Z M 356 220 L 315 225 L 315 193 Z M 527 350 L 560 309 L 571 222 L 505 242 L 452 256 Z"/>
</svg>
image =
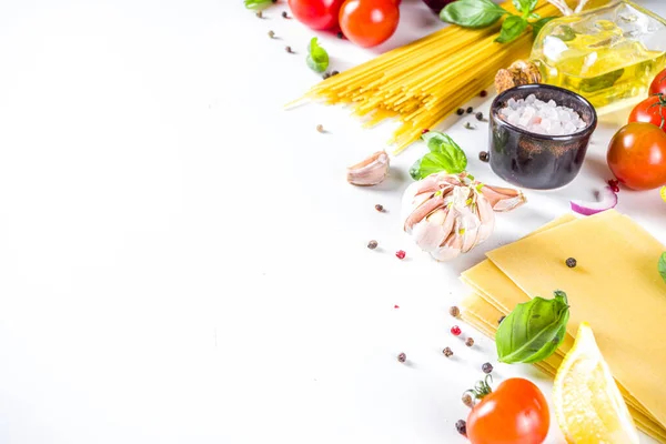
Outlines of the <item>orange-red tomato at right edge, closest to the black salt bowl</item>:
<svg viewBox="0 0 666 444">
<path fill-rule="evenodd" d="M 610 140 L 608 167 L 618 181 L 633 190 L 666 184 L 666 132 L 652 123 L 629 123 Z"/>
</svg>

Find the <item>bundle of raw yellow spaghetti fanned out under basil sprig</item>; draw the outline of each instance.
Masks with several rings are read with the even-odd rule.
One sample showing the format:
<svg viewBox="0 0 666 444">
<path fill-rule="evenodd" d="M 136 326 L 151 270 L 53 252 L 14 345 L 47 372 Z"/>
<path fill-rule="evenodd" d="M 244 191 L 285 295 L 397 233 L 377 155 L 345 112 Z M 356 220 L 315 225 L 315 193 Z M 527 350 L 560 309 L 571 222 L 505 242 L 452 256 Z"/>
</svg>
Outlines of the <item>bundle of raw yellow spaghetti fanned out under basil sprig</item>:
<svg viewBox="0 0 666 444">
<path fill-rule="evenodd" d="M 511 1 L 502 6 L 515 11 Z M 534 12 L 541 17 L 558 14 L 549 3 Z M 424 129 L 434 128 L 461 103 L 493 84 L 500 69 L 529 54 L 532 33 L 497 43 L 498 30 L 500 24 L 481 30 L 446 27 L 324 80 L 304 99 L 351 105 L 353 115 L 363 118 L 366 128 L 397 119 L 401 125 L 389 141 L 396 145 L 397 154 Z"/>
</svg>

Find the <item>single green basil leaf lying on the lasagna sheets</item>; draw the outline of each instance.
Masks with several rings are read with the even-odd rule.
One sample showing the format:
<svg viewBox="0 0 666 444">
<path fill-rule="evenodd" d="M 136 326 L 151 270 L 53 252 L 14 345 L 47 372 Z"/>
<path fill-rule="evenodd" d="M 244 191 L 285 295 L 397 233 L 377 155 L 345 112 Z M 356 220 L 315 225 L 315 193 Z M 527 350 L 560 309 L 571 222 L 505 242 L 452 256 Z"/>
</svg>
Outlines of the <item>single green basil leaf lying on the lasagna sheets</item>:
<svg viewBox="0 0 666 444">
<path fill-rule="evenodd" d="M 568 319 L 566 293 L 559 290 L 551 300 L 534 297 L 516 305 L 495 335 L 500 362 L 533 363 L 551 356 L 564 341 Z"/>
</svg>

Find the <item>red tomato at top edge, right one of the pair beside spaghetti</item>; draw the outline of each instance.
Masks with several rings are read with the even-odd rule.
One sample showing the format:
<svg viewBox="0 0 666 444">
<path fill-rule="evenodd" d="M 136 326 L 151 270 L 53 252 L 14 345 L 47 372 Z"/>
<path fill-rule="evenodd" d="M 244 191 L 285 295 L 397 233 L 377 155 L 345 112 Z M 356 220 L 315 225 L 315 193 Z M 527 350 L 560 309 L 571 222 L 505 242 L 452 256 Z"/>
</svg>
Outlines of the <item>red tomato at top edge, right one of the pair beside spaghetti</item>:
<svg viewBox="0 0 666 444">
<path fill-rule="evenodd" d="M 340 28 L 363 48 L 386 41 L 397 28 L 400 9 L 394 0 L 346 0 L 340 9 Z"/>
</svg>

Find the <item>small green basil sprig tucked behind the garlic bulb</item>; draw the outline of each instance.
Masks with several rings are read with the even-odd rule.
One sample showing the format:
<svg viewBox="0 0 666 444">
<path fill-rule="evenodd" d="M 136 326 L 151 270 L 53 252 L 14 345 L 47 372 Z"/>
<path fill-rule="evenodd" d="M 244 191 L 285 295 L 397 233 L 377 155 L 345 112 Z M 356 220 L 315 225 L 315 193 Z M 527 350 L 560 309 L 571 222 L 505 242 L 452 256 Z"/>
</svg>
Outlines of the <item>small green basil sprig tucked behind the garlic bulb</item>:
<svg viewBox="0 0 666 444">
<path fill-rule="evenodd" d="M 467 157 L 447 134 L 438 131 L 428 131 L 421 139 L 427 143 L 430 152 L 414 162 L 412 168 L 410 168 L 412 179 L 421 180 L 442 171 L 450 174 L 457 174 L 465 171 L 465 168 L 467 168 Z"/>
</svg>

